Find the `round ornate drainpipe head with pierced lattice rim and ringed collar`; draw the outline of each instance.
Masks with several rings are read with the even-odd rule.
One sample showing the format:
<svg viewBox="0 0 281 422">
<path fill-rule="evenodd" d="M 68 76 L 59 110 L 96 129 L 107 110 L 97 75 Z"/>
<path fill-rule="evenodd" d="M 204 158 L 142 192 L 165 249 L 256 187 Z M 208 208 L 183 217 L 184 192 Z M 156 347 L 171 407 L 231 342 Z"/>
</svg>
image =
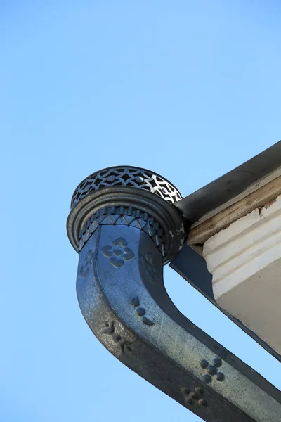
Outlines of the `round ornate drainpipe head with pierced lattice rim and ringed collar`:
<svg viewBox="0 0 281 422">
<path fill-rule="evenodd" d="M 77 252 L 99 225 L 127 225 L 144 231 L 164 264 L 184 243 L 185 228 L 171 204 L 182 198 L 164 177 L 137 167 L 109 167 L 81 181 L 72 196 L 67 234 Z"/>
</svg>

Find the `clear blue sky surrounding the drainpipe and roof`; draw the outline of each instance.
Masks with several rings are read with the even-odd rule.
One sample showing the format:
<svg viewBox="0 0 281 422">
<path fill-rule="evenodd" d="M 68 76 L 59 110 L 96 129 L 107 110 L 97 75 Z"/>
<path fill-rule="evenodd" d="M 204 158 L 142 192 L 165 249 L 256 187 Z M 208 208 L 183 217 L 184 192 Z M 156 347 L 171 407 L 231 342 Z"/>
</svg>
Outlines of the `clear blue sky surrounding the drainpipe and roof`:
<svg viewBox="0 0 281 422">
<path fill-rule="evenodd" d="M 148 167 L 186 196 L 279 141 L 280 10 L 1 1 L 1 421 L 200 420 L 93 336 L 65 221 L 100 168 Z M 280 388 L 275 359 L 165 271 L 179 309 Z"/>
</svg>

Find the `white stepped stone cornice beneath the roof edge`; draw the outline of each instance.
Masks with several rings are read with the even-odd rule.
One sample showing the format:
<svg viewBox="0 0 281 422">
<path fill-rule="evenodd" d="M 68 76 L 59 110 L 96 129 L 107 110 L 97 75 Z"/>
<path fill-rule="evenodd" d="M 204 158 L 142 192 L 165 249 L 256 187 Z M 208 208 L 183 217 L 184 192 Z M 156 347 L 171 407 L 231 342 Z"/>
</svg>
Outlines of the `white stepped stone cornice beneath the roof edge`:
<svg viewBox="0 0 281 422">
<path fill-rule="evenodd" d="M 203 256 L 218 304 L 280 353 L 281 196 L 211 236 Z"/>
</svg>

